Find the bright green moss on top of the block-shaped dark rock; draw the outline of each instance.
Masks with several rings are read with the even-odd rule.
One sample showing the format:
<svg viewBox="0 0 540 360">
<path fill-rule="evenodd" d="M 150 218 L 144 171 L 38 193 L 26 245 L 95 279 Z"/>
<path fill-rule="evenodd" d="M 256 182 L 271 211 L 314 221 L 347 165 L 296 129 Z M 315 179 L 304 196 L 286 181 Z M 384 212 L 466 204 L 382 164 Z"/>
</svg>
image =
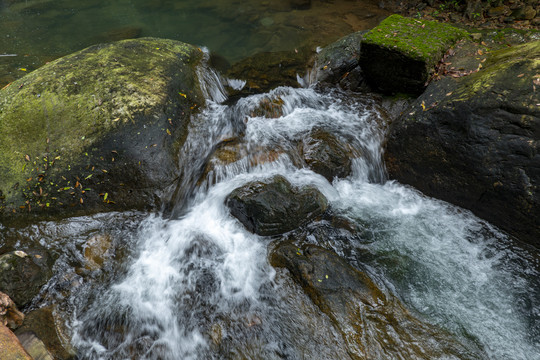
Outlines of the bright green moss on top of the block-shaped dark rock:
<svg viewBox="0 0 540 360">
<path fill-rule="evenodd" d="M 467 32 L 448 24 L 392 15 L 364 36 L 365 43 L 376 44 L 427 63 L 440 60 L 444 51 Z"/>
</svg>

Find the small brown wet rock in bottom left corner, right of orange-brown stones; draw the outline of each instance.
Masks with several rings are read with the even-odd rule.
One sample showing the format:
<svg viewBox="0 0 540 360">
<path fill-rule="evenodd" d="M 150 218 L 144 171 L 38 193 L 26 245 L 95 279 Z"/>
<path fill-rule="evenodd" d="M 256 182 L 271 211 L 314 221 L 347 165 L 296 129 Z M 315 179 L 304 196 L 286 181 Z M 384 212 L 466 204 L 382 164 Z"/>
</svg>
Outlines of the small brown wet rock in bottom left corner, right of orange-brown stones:
<svg viewBox="0 0 540 360">
<path fill-rule="evenodd" d="M 23 325 L 17 329 L 15 334 L 19 337 L 23 345 L 25 344 L 24 339 L 32 340 L 32 338 L 37 337 L 47 353 L 52 354 L 55 359 L 73 359 L 75 351 L 67 342 L 66 331 L 57 325 L 63 324 L 63 321 L 61 319 L 55 320 L 53 308 L 50 306 L 36 309 L 26 315 Z M 59 334 L 64 334 L 63 340 Z M 24 346 L 26 348 L 26 345 Z"/>
</svg>

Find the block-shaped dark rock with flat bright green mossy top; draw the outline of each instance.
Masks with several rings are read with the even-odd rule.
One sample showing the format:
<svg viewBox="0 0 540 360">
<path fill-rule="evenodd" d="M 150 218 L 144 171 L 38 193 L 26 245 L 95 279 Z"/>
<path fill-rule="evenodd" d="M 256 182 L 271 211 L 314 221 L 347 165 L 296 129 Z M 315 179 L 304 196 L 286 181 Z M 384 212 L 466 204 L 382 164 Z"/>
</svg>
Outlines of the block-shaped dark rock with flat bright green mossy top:
<svg viewBox="0 0 540 360">
<path fill-rule="evenodd" d="M 364 35 L 360 66 L 373 89 L 419 94 L 444 53 L 466 35 L 448 24 L 392 15 Z"/>
</svg>

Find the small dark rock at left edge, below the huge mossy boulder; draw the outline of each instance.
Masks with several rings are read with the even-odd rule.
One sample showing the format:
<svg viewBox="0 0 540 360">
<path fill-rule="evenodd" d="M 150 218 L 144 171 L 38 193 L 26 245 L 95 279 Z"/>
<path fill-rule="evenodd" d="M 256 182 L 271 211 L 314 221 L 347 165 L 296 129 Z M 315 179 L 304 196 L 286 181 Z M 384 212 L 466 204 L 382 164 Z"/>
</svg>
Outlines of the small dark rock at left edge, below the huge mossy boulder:
<svg viewBox="0 0 540 360">
<path fill-rule="evenodd" d="M 52 273 L 46 252 L 12 251 L 0 256 L 0 291 L 21 308 L 47 283 Z"/>
</svg>

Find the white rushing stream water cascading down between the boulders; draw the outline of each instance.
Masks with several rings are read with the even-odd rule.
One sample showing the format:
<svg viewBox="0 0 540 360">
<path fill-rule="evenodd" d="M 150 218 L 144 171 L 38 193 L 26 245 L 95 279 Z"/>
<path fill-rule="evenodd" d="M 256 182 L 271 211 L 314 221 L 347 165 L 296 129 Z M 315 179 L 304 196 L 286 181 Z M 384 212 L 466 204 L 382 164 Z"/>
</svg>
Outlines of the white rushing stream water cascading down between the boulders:
<svg viewBox="0 0 540 360">
<path fill-rule="evenodd" d="M 266 117 L 258 109 L 269 102 L 278 109 Z M 298 141 L 314 129 L 354 149 L 352 175 L 329 183 L 299 165 Z M 468 211 L 387 181 L 384 131 L 385 116 L 368 96 L 312 87 L 234 105 L 210 100 L 182 149 L 172 216 L 98 214 L 0 234 L 4 245 L 34 241 L 57 258 L 34 306 L 56 304 L 80 359 L 349 358 L 335 324 L 269 264 L 280 238 L 248 232 L 225 206 L 233 189 L 281 174 L 316 186 L 333 216 L 350 224 L 345 231 L 316 221 L 293 236 L 296 244 L 334 250 L 422 321 L 481 349 L 477 358 L 540 359 L 538 253 Z M 245 156 L 214 161 L 231 138 Z M 89 239 L 103 234 L 111 239 L 103 265 L 85 268 Z"/>
</svg>

